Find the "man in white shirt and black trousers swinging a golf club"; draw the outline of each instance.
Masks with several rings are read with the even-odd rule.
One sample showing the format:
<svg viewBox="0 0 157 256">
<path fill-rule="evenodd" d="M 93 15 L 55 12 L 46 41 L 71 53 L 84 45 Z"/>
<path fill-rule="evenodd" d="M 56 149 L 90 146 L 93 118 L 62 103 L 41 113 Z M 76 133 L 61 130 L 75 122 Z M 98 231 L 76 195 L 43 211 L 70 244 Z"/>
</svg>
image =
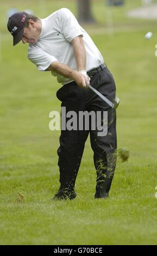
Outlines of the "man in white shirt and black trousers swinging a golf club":
<svg viewBox="0 0 157 256">
<path fill-rule="evenodd" d="M 31 62 L 38 70 L 51 71 L 61 83 L 56 96 L 61 101 L 61 107 L 66 107 L 66 113 L 108 113 L 108 132 L 105 136 L 98 136 L 97 128 L 61 130 L 58 149 L 60 187 L 53 198 L 76 198 L 75 182 L 89 133 L 97 173 L 95 198 L 108 197 L 116 166 L 113 157 L 117 147 L 116 113 L 115 109 L 86 87 L 90 83 L 114 102 L 115 82 L 104 64 L 102 54 L 66 8 L 55 11 L 46 19 L 38 19 L 25 12 L 15 13 L 9 18 L 8 30 L 13 36 L 13 45 L 21 40 L 23 44 L 28 43 L 28 58 Z M 90 180 L 86 186 L 89 183 Z"/>
</svg>

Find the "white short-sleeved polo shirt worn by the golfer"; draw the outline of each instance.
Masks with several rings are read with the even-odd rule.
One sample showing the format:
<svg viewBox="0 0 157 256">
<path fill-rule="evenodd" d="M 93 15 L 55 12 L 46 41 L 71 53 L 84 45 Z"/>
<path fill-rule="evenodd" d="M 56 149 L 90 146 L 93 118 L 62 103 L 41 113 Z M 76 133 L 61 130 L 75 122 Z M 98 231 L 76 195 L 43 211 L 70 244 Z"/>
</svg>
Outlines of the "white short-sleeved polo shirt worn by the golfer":
<svg viewBox="0 0 157 256">
<path fill-rule="evenodd" d="M 71 41 L 79 35 L 83 35 L 85 45 L 86 70 L 97 68 L 104 62 L 102 54 L 70 10 L 62 8 L 46 19 L 41 19 L 41 22 L 40 38 L 36 44 L 29 44 L 28 48 L 28 58 L 37 69 L 45 71 L 52 62 L 58 61 L 70 66 L 71 69 L 78 70 Z M 52 75 L 57 76 L 59 83 L 72 81 L 55 72 L 52 72 Z"/>
</svg>

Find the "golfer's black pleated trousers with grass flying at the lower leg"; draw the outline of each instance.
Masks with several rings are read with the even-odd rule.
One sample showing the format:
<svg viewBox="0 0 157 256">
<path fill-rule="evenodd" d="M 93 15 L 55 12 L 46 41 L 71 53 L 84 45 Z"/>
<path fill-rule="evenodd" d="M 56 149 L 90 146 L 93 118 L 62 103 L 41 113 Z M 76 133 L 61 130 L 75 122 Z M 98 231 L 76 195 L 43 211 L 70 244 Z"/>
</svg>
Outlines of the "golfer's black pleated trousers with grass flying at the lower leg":
<svg viewBox="0 0 157 256">
<path fill-rule="evenodd" d="M 116 87 L 114 78 L 108 68 L 97 72 L 90 81 L 100 93 L 110 101 L 114 101 Z M 75 82 L 65 84 L 56 93 L 62 102 L 61 107 L 69 111 L 104 111 L 108 112 L 108 133 L 106 136 L 98 136 L 98 130 L 61 130 L 60 147 L 58 149 L 60 189 L 74 190 L 81 158 L 83 156 L 86 139 L 90 133 L 93 160 L 97 170 L 96 197 L 108 194 L 115 172 L 116 157 L 116 111 L 108 106 L 101 97 L 97 96 L 89 88 L 77 86 Z M 67 118 L 68 120 L 68 118 Z"/>
</svg>

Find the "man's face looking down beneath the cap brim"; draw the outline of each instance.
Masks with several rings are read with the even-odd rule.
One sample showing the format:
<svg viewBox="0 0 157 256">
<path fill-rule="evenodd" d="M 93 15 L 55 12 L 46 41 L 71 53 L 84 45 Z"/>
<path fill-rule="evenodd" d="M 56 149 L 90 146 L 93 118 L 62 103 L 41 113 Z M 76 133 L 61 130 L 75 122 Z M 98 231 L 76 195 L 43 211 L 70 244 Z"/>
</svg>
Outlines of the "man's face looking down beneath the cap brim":
<svg viewBox="0 0 157 256">
<path fill-rule="evenodd" d="M 24 27 L 22 38 L 23 44 L 26 44 L 26 42 L 29 44 L 36 44 L 36 42 L 39 40 L 39 36 L 40 33 L 37 30 L 36 23 L 32 20 L 29 20 L 29 26 Z"/>
</svg>

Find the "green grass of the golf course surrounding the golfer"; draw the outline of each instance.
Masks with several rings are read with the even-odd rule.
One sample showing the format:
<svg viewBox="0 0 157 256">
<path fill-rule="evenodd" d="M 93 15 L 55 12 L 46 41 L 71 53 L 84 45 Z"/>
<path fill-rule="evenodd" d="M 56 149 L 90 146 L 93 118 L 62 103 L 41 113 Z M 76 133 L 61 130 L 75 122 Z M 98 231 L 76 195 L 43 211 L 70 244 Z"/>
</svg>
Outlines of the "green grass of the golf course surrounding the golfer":
<svg viewBox="0 0 157 256">
<path fill-rule="evenodd" d="M 28 8 L 26 2 L 14 2 L 19 9 Z M 52 7 L 47 1 L 46 9 L 61 8 L 63 2 L 74 9 L 73 1 L 61 0 Z M 140 2 L 131 1 L 131 7 Z M 5 1 L 3 10 L 10 3 Z M 115 77 L 121 99 L 118 148 L 130 150 L 127 163 L 118 161 L 107 200 L 93 199 L 96 173 L 88 140 L 76 184 L 77 198 L 52 202 L 59 186 L 56 149 L 60 132 L 48 129 L 48 115 L 60 111 L 55 96 L 60 85 L 29 63 L 26 45 L 12 47 L 12 38 L 1 23 L 1 245 L 156 244 L 156 21 L 143 21 L 142 26 L 138 19 L 127 19 L 123 12 L 128 3 L 124 9 L 113 9 L 114 34 L 106 33 L 103 25 L 97 32 L 95 26 L 93 31 L 87 26 Z M 95 1 L 93 5 L 103 24 L 102 5 L 98 8 Z M 41 8 L 32 2 L 29 8 L 33 7 L 36 11 Z M 149 26 L 153 37 L 147 41 L 144 35 Z"/>
</svg>

